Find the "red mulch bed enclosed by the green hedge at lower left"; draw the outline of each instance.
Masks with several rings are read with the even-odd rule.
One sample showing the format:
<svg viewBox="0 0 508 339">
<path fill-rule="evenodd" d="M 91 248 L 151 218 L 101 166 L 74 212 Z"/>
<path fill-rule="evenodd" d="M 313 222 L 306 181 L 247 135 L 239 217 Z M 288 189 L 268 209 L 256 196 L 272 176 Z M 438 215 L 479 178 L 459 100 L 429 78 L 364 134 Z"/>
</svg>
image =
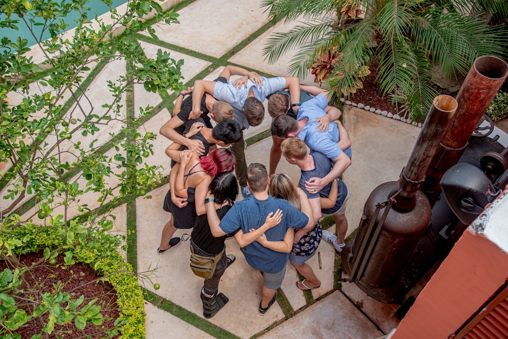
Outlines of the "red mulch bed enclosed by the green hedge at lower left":
<svg viewBox="0 0 508 339">
<path fill-rule="evenodd" d="M 43 257 L 43 252 L 40 253 L 29 253 L 22 255 L 19 260 L 25 265 L 30 265 L 33 262 L 37 262 L 39 259 Z M 104 331 L 111 330 L 114 328 L 114 322 L 119 317 L 118 308 L 116 305 L 116 292 L 108 282 L 102 281 L 94 281 L 96 279 L 100 279 L 101 276 L 97 275 L 93 269 L 88 266 L 86 263 L 76 262 L 74 265 L 65 266 L 63 264 L 63 255 L 59 255 L 57 257 L 57 263 L 55 266 L 47 264 L 43 264 L 38 266 L 30 271 L 30 279 L 28 284 L 30 286 L 35 286 L 36 284 L 40 284 L 41 288 L 38 291 L 42 294 L 45 292 L 49 292 L 54 294 L 53 284 L 56 284 L 58 281 L 61 281 L 65 286 L 63 288 L 64 291 L 69 292 L 72 290 L 74 293 L 74 297 L 72 299 L 77 299 L 81 295 L 84 295 L 84 301 L 80 305 L 78 309 L 84 307 L 90 300 L 94 298 L 98 298 L 98 300 L 94 303 L 96 305 L 101 306 L 101 314 L 103 315 L 103 323 L 96 328 L 92 323 L 87 323 L 83 330 L 78 330 L 74 325 L 74 319 L 65 324 L 65 325 L 57 325 L 55 324 L 55 329 L 53 333 L 49 336 L 51 338 L 54 337 L 65 337 L 65 338 L 101 338 L 108 337 Z M 0 261 L 0 272 L 2 272 L 6 268 L 6 261 Z M 12 267 L 9 267 L 12 269 Z M 63 269 L 66 268 L 66 269 Z M 41 295 L 34 294 L 21 294 L 21 297 L 24 298 L 42 298 Z M 62 303 L 61 306 L 65 308 L 67 303 Z M 23 308 L 18 304 L 19 308 Z M 30 314 L 28 310 L 33 310 L 35 307 L 30 306 L 24 307 L 23 309 L 27 314 Z M 47 322 L 48 313 L 45 313 L 42 318 L 45 323 Z M 24 326 L 18 328 L 15 333 L 21 335 L 22 338 L 30 338 L 32 335 L 37 333 L 42 333 L 42 328 L 44 324 L 42 324 L 39 320 L 33 319 L 30 322 L 26 323 Z M 59 333 L 58 333 L 59 332 Z M 58 334 L 56 334 L 58 333 Z M 45 335 L 43 334 L 43 338 Z M 113 338 L 118 338 L 119 336 L 113 336 Z"/>
</svg>

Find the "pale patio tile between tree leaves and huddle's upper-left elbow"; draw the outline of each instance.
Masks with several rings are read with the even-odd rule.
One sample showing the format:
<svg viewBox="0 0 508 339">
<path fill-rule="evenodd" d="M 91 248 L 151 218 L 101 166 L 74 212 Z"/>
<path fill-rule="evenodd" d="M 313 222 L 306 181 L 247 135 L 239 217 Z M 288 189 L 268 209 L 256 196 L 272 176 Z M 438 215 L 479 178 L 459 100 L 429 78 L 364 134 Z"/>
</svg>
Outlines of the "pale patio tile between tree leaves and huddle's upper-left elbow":
<svg viewBox="0 0 508 339">
<path fill-rule="evenodd" d="M 164 135 L 158 133 L 161 126 L 169 119 L 171 119 L 171 115 L 167 109 L 163 109 L 138 128 L 138 131 L 141 134 L 153 132 L 157 135 L 155 140 L 151 140 L 151 144 L 153 145 L 153 154 L 151 154 L 148 158 L 144 158 L 143 163 L 138 164 L 138 168 L 144 167 L 145 164 L 150 166 L 161 165 L 163 166 L 162 175 L 169 175 L 169 171 L 171 170 L 171 159 L 166 155 L 165 150 L 172 144 L 172 141 L 164 137 Z"/>
</svg>

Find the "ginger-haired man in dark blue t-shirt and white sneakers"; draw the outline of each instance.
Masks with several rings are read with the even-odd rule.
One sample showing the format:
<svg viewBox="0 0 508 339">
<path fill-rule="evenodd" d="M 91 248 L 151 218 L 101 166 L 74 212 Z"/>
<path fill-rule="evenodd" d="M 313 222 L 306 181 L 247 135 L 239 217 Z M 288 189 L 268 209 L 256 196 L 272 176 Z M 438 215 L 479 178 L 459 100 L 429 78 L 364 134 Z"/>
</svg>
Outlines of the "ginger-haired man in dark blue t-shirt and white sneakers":
<svg viewBox="0 0 508 339">
<path fill-rule="evenodd" d="M 340 178 L 334 178 L 333 181 L 325 185 L 320 191 L 314 191 L 306 188 L 306 182 L 311 178 L 326 177 L 332 168 L 332 163 L 326 155 L 311 151 L 307 154 L 307 147 L 300 138 L 289 138 L 280 145 L 283 157 L 291 164 L 300 167 L 300 187 L 307 194 L 310 206 L 312 207 L 312 215 L 314 222 L 321 217 L 331 215 L 335 219 L 337 226 L 337 236 L 327 230 L 323 230 L 323 239 L 333 245 L 337 252 L 342 251 L 344 247 L 344 239 L 347 232 L 347 219 L 345 217 L 346 200 L 349 197 L 347 187 Z M 337 185 L 337 196 L 330 196 L 332 185 Z M 322 208 L 321 197 L 328 198 L 334 202 L 330 208 Z M 298 232 L 295 235 L 299 236 Z"/>
</svg>

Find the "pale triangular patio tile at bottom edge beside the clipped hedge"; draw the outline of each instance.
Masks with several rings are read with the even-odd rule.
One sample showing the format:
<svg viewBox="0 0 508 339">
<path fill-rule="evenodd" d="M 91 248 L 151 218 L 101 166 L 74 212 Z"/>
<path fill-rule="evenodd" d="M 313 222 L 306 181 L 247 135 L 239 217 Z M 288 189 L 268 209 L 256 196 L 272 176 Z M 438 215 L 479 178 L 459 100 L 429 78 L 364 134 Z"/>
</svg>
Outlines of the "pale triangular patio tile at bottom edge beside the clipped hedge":
<svg viewBox="0 0 508 339">
<path fill-rule="evenodd" d="M 213 338 L 210 334 L 196 328 L 172 314 L 158 309 L 145 301 L 146 339 L 160 338 Z"/>
</svg>

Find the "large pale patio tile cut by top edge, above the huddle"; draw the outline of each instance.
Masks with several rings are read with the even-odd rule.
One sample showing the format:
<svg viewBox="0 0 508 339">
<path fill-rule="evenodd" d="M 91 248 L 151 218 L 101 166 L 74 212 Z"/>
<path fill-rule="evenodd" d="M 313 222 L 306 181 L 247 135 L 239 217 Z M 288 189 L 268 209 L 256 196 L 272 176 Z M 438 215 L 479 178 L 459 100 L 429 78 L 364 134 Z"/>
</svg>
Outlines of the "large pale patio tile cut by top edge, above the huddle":
<svg viewBox="0 0 508 339">
<path fill-rule="evenodd" d="M 180 24 L 152 27 L 162 41 L 220 57 L 268 22 L 263 11 L 258 0 L 198 0 L 178 11 Z"/>
</svg>

